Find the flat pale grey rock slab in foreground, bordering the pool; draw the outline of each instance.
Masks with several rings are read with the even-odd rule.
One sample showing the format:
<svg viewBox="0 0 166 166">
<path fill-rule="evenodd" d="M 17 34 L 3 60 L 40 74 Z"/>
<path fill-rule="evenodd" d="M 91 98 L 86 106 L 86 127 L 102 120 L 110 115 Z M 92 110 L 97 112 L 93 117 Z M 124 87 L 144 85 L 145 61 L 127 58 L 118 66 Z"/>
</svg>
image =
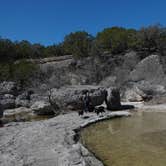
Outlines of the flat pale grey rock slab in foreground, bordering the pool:
<svg viewBox="0 0 166 166">
<path fill-rule="evenodd" d="M 103 166 L 85 147 L 75 141 L 75 130 L 125 111 L 106 112 L 102 117 L 88 113 L 59 115 L 46 121 L 10 123 L 0 128 L 1 166 Z"/>
</svg>

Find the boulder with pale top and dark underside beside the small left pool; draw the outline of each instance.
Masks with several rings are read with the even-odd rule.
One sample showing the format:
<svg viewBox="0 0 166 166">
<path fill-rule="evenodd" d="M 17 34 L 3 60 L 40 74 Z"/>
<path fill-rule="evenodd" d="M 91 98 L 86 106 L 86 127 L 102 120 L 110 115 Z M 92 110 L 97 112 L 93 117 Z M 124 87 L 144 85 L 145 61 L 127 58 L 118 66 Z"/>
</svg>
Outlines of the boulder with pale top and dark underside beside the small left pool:
<svg viewBox="0 0 166 166">
<path fill-rule="evenodd" d="M 55 109 L 53 106 L 46 101 L 36 101 L 32 106 L 31 109 L 37 115 L 53 115 L 55 114 Z"/>
</svg>

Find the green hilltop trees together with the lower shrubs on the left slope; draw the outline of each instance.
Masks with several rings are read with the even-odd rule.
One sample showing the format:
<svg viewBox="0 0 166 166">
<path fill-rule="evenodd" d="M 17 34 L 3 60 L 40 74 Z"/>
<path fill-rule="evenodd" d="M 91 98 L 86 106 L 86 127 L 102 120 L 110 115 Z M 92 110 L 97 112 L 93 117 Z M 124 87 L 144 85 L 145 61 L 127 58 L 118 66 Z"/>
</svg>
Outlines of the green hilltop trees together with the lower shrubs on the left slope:
<svg viewBox="0 0 166 166">
<path fill-rule="evenodd" d="M 84 57 L 101 57 L 103 54 L 118 59 L 118 55 L 129 50 L 139 52 L 140 59 L 152 53 L 165 56 L 166 28 L 160 25 L 139 30 L 111 27 L 98 32 L 96 36 L 77 31 L 66 35 L 62 43 L 51 46 L 0 38 L 0 80 L 28 84 L 29 78 L 32 79 L 39 73 L 39 67 L 33 61 L 27 62 L 25 59 L 73 55 L 78 60 Z"/>
</svg>

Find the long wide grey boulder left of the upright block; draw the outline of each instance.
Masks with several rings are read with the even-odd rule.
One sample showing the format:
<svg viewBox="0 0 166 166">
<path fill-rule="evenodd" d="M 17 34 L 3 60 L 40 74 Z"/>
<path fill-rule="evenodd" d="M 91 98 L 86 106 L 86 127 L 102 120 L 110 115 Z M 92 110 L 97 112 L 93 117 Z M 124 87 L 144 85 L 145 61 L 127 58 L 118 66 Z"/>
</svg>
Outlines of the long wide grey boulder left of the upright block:
<svg viewBox="0 0 166 166">
<path fill-rule="evenodd" d="M 52 89 L 51 100 L 60 109 L 81 109 L 83 106 L 82 97 L 85 91 L 89 91 L 89 96 L 93 106 L 101 105 L 106 96 L 106 90 L 98 86 L 80 85 L 69 86 L 61 89 Z"/>
</svg>

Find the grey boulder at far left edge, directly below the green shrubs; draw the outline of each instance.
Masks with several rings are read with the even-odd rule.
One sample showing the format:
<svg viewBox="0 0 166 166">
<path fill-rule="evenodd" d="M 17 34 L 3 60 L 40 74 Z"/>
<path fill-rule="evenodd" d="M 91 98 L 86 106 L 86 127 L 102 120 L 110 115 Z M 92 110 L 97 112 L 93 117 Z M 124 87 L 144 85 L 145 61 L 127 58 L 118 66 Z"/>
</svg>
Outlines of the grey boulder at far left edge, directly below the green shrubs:
<svg viewBox="0 0 166 166">
<path fill-rule="evenodd" d="M 15 82 L 1 82 L 0 83 L 0 94 L 17 94 L 17 85 Z"/>
</svg>

